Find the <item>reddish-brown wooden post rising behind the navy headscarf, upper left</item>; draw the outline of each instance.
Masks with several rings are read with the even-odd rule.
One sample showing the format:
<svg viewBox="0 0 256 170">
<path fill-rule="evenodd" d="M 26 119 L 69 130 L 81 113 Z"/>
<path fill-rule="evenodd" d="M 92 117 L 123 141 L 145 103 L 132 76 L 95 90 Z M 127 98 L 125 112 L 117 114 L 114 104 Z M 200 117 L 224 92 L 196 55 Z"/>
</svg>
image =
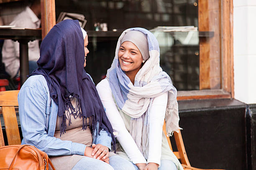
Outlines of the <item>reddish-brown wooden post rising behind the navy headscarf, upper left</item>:
<svg viewBox="0 0 256 170">
<path fill-rule="evenodd" d="M 56 24 L 55 0 L 41 0 L 42 40 Z"/>
</svg>

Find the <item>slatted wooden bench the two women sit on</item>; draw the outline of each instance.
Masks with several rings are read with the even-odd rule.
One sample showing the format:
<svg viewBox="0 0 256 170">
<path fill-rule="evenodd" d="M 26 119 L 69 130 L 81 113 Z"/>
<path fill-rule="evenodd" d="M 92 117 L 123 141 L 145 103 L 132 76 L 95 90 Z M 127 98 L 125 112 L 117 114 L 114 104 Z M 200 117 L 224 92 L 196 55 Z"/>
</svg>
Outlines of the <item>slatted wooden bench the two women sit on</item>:
<svg viewBox="0 0 256 170">
<path fill-rule="evenodd" d="M 2 112 L 0 114 L 3 114 L 8 145 L 18 145 L 21 143 L 20 133 L 18 129 L 18 122 L 17 122 L 16 112 L 15 112 L 15 106 L 18 106 L 18 92 L 19 90 L 0 92 L 0 107 L 2 107 Z M 165 122 L 164 122 L 163 130 L 166 135 Z M 166 135 L 166 138 L 172 150 L 172 144 L 171 144 L 170 138 L 167 137 L 167 135 Z M 187 158 L 181 133 L 174 132 L 174 138 L 175 138 L 176 146 L 178 149 L 177 152 L 174 152 L 174 155 L 176 155 L 177 158 L 181 161 L 184 170 L 203 170 L 203 169 L 191 167 L 189 160 Z M 0 146 L 5 146 L 1 122 L 0 122 Z"/>
</svg>

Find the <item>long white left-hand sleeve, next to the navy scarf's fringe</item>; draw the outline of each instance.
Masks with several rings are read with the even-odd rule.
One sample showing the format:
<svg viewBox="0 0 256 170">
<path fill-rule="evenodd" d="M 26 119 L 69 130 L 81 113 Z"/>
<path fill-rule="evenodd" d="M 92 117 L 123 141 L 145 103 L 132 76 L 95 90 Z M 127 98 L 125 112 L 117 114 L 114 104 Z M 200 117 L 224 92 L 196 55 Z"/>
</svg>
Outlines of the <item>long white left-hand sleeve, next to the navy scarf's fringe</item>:
<svg viewBox="0 0 256 170">
<path fill-rule="evenodd" d="M 125 128 L 123 119 L 115 105 L 115 101 L 113 100 L 108 80 L 102 80 L 100 83 L 98 83 L 96 89 L 99 93 L 102 104 L 106 109 L 106 114 L 113 127 L 113 130 L 114 132 L 118 133 L 117 140 L 122 145 L 125 153 L 134 164 L 146 163 L 146 159 L 138 149 L 128 130 Z"/>
</svg>

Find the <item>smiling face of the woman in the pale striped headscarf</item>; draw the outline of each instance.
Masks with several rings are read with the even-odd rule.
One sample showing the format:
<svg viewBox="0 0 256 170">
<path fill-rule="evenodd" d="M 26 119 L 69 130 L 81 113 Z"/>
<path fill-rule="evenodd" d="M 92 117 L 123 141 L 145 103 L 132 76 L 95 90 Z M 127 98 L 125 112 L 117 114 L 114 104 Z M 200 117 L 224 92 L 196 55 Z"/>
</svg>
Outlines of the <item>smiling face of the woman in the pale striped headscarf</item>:
<svg viewBox="0 0 256 170">
<path fill-rule="evenodd" d="M 121 69 L 125 71 L 126 75 L 130 73 L 136 75 L 142 67 L 143 58 L 136 45 L 130 41 L 125 41 L 119 47 L 118 60 Z"/>
</svg>

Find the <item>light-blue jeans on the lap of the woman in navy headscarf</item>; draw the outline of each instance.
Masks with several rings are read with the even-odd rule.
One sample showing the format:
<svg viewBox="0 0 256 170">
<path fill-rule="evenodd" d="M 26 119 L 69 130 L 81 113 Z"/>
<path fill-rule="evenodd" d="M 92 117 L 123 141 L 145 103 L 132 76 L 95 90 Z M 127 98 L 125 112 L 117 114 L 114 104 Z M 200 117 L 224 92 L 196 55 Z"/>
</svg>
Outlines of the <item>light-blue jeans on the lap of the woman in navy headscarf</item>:
<svg viewBox="0 0 256 170">
<path fill-rule="evenodd" d="M 118 155 L 109 158 L 107 164 L 101 160 L 85 157 L 78 161 L 72 170 L 135 170 L 133 163 Z"/>
</svg>

